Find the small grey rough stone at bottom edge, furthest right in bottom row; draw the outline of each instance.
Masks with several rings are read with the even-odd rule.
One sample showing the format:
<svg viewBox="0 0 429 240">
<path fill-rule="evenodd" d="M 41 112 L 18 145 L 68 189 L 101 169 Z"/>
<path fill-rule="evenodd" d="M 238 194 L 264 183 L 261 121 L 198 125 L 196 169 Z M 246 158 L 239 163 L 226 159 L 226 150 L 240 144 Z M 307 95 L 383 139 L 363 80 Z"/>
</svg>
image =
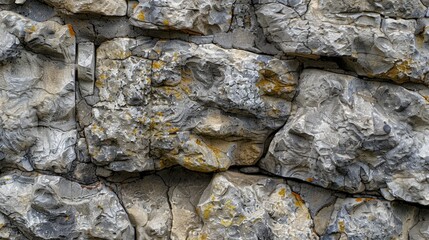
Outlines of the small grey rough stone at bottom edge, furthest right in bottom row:
<svg viewBox="0 0 429 240">
<path fill-rule="evenodd" d="M 322 239 L 408 239 L 418 210 L 374 198 L 338 199 Z"/>
</svg>

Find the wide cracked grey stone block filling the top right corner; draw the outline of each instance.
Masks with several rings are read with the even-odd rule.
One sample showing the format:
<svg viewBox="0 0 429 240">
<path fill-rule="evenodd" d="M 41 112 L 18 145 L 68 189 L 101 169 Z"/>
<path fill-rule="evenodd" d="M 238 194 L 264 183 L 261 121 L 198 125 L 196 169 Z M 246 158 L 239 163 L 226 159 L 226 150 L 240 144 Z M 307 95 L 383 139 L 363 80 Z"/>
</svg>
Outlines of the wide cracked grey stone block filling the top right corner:
<svg viewBox="0 0 429 240">
<path fill-rule="evenodd" d="M 421 1 L 277 0 L 256 8 L 264 33 L 285 53 L 341 57 L 359 75 L 429 83 Z"/>
</svg>

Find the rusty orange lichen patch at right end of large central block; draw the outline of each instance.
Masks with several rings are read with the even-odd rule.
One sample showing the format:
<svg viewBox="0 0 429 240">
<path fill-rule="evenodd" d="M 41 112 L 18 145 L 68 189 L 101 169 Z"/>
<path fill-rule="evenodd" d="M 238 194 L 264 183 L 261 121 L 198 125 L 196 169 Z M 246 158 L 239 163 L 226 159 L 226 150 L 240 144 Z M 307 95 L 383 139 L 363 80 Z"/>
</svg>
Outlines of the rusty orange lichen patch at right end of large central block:
<svg viewBox="0 0 429 240">
<path fill-rule="evenodd" d="M 282 83 L 278 74 L 271 70 L 260 70 L 259 77 L 256 86 L 264 95 L 285 98 L 287 94 L 295 91 L 295 84 Z"/>
</svg>

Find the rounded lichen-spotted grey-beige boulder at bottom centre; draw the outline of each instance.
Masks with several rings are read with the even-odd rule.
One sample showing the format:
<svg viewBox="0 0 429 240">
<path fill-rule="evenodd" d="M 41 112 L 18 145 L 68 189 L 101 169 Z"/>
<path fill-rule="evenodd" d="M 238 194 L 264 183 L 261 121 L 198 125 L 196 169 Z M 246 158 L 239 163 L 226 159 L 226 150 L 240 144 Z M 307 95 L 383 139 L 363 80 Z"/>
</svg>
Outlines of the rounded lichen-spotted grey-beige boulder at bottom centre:
<svg viewBox="0 0 429 240">
<path fill-rule="evenodd" d="M 305 203 L 281 179 L 216 174 L 197 210 L 203 226 L 189 239 L 317 239 Z"/>
</svg>

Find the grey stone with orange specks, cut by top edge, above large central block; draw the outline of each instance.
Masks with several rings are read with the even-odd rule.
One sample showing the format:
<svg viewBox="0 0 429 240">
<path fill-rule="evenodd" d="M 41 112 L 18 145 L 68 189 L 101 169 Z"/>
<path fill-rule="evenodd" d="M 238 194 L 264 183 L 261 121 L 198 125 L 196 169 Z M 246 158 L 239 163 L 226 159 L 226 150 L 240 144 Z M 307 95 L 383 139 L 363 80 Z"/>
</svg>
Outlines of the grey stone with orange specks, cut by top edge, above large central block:
<svg viewBox="0 0 429 240">
<path fill-rule="evenodd" d="M 132 1 L 131 24 L 146 29 L 214 34 L 230 29 L 234 0 Z"/>
</svg>

